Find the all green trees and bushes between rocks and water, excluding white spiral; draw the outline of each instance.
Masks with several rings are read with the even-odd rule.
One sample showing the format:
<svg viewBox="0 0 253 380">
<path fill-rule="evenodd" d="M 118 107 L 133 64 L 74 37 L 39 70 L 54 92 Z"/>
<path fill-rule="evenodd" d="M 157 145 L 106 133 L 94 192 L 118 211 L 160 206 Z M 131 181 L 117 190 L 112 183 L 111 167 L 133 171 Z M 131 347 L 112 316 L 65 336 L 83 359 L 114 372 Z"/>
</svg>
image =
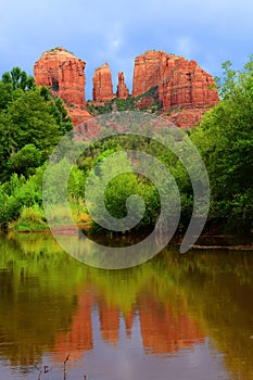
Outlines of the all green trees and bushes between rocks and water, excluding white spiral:
<svg viewBox="0 0 253 380">
<path fill-rule="evenodd" d="M 253 61 L 235 72 L 224 64 L 219 83 L 220 102 L 207 112 L 190 138 L 198 147 L 208 172 L 212 199 L 210 220 L 220 231 L 249 232 L 253 221 Z M 152 89 L 154 107 L 159 103 Z M 135 110 L 141 99 L 113 100 L 104 105 L 88 104 L 93 114 Z M 92 110 L 91 110 L 92 109 Z M 45 163 L 61 137 L 72 129 L 69 117 L 60 99 L 46 87 L 36 87 L 33 77 L 18 67 L 5 73 L 0 81 L 0 227 L 45 229 L 41 186 Z M 192 189 L 186 169 L 178 159 L 164 148 L 144 138 L 114 137 L 97 142 L 74 165 L 68 191 L 74 217 L 87 223 L 84 204 L 87 176 L 97 163 L 113 152 L 137 149 L 166 164 L 175 177 L 181 195 L 180 227 L 188 225 L 192 212 Z M 100 170 L 106 170 L 100 165 Z M 113 170 L 113 167 L 112 167 Z M 160 213 L 160 198 L 154 185 L 134 173 L 115 177 L 105 192 L 105 204 L 117 218 L 126 215 L 126 199 L 140 194 L 146 213 L 136 230 L 152 228 Z M 64 219 L 64 211 L 59 211 Z M 210 226 L 210 225 L 207 225 Z M 92 224 L 98 230 L 98 225 Z"/>
</svg>

